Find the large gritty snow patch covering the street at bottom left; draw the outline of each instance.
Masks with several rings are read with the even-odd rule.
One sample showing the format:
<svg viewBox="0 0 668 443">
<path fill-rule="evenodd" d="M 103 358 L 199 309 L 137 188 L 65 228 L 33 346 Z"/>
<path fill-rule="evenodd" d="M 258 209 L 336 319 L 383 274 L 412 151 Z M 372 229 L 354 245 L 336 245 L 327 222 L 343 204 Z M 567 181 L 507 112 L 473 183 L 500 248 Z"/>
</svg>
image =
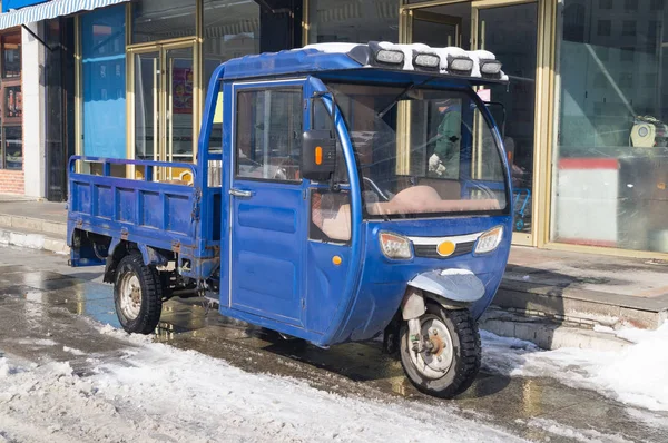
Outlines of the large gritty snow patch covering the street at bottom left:
<svg viewBox="0 0 668 443">
<path fill-rule="evenodd" d="M 94 371 L 86 377 L 68 362 L 0 357 L 0 442 L 518 441 L 445 404 L 343 397 L 144 337 L 129 342 L 119 358 L 82 357 Z"/>
</svg>

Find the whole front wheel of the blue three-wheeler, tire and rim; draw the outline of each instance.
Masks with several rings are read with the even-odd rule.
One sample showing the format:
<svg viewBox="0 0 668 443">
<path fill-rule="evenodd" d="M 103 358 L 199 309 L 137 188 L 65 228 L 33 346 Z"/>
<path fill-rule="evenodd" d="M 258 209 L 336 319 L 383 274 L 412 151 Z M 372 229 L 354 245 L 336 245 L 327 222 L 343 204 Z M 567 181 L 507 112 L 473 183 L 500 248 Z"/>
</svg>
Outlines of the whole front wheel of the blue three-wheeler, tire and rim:
<svg viewBox="0 0 668 443">
<path fill-rule="evenodd" d="M 400 332 L 401 364 L 411 383 L 442 398 L 466 391 L 480 371 L 480 334 L 469 309 L 449 311 L 428 303 L 420 332 L 422 352 L 413 350 L 407 322 Z"/>
</svg>

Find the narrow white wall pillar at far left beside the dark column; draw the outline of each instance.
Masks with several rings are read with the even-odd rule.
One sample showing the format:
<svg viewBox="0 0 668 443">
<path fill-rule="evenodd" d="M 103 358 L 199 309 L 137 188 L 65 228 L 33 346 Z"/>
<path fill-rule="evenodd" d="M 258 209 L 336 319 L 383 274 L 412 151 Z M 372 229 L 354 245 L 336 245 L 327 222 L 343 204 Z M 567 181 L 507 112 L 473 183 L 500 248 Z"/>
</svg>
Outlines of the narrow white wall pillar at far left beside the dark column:
<svg viewBox="0 0 668 443">
<path fill-rule="evenodd" d="M 38 23 L 28 27 L 39 36 Z M 26 196 L 46 197 L 45 47 L 22 30 L 23 173 Z"/>
</svg>

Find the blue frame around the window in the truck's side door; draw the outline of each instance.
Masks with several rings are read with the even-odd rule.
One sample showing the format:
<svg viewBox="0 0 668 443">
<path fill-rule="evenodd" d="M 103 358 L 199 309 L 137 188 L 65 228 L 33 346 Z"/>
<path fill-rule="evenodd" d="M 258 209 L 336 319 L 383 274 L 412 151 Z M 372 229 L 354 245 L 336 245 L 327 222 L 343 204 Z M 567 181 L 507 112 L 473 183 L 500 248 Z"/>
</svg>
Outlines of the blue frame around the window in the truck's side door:
<svg viewBox="0 0 668 443">
<path fill-rule="evenodd" d="M 240 86 L 240 85 L 239 85 Z M 291 91 L 291 92 L 298 92 L 299 95 L 299 104 L 304 102 L 304 83 L 303 82 L 277 82 L 277 83 L 269 83 L 269 85 L 262 85 L 262 83 L 256 83 L 254 86 L 240 86 L 240 87 L 236 87 L 235 86 L 235 91 L 234 91 L 234 142 L 233 142 L 233 149 L 234 149 L 234 163 L 233 163 L 233 177 L 235 180 L 248 180 L 248 181 L 263 181 L 263 183 L 276 183 L 276 184 L 286 184 L 286 185 L 302 185 L 302 183 L 304 181 L 304 179 L 301 177 L 301 163 L 302 163 L 302 154 L 303 150 L 299 150 L 299 159 L 298 159 L 298 170 L 299 170 L 299 178 L 298 179 L 294 179 L 294 180 L 289 180 L 289 179 L 274 179 L 274 178 L 264 178 L 264 177 L 247 177 L 247 176 L 243 176 L 239 174 L 239 125 L 240 125 L 240 118 L 238 118 L 239 116 L 239 97 L 243 93 L 248 93 L 248 92 L 265 92 L 265 91 Z M 304 132 L 304 107 L 301 105 L 299 106 L 299 110 L 301 112 L 301 132 L 298 134 L 301 138 L 303 138 L 303 132 Z M 303 147 L 302 147 L 303 148 Z"/>
</svg>

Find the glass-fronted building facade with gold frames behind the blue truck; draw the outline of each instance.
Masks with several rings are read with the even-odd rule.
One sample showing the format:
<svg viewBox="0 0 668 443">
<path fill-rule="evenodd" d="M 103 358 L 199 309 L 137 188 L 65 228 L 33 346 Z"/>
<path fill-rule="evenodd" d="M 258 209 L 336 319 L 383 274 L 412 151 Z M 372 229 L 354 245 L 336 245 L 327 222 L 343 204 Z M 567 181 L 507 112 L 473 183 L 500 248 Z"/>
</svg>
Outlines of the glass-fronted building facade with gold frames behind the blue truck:
<svg viewBox="0 0 668 443">
<path fill-rule="evenodd" d="M 460 46 L 491 50 L 510 76 L 481 95 L 499 105 L 513 168 L 514 243 L 668 257 L 664 0 L 16 0 L 3 12 L 59 2 L 81 10 L 2 31 L 0 193 L 65 199 L 72 154 L 191 161 L 207 79 L 234 57 Z"/>
</svg>

